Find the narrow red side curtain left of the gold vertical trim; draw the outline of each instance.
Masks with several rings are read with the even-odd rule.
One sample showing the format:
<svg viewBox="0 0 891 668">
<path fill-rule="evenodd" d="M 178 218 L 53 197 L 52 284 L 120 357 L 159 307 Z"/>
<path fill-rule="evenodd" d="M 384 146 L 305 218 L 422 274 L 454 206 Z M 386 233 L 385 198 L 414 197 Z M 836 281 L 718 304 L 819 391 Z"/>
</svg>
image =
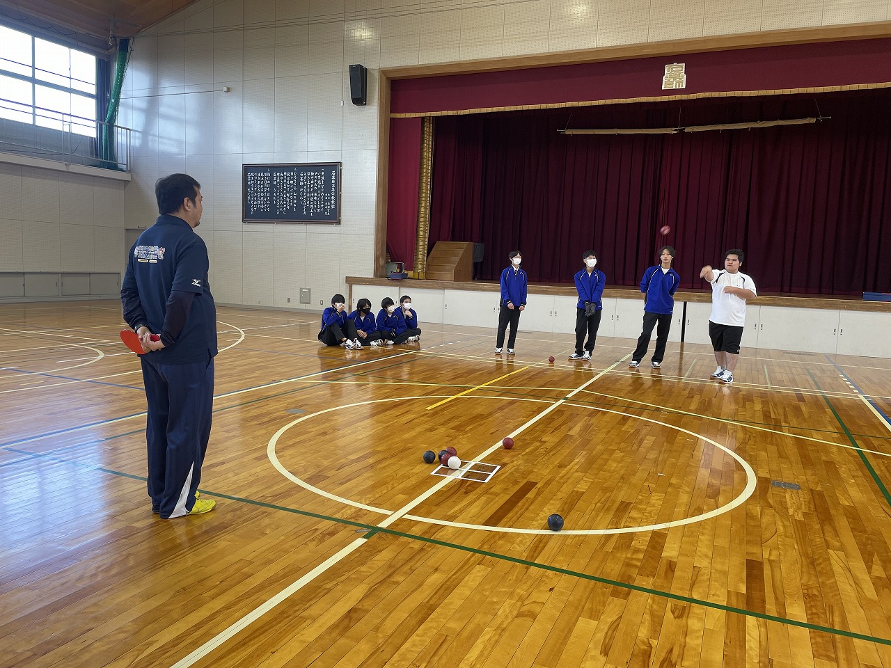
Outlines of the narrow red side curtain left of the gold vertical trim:
<svg viewBox="0 0 891 668">
<path fill-rule="evenodd" d="M 414 268 L 421 178 L 421 118 L 393 118 L 389 136 L 387 252 L 393 262 Z"/>
</svg>

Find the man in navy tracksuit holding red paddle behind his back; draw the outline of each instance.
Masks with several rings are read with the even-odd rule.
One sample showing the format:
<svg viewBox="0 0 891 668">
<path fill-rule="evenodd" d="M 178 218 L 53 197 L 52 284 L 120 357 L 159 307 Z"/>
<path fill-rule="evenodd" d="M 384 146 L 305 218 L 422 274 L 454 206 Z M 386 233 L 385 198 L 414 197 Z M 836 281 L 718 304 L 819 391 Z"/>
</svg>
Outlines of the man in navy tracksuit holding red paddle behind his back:
<svg viewBox="0 0 891 668">
<path fill-rule="evenodd" d="M 217 354 L 208 248 L 194 232 L 203 210 L 200 187 L 185 174 L 155 183 L 160 216 L 130 249 L 120 290 L 124 320 L 146 351 L 140 359 L 148 400 L 148 488 L 152 511 L 164 519 L 199 515 L 217 504 L 198 498 Z"/>
</svg>

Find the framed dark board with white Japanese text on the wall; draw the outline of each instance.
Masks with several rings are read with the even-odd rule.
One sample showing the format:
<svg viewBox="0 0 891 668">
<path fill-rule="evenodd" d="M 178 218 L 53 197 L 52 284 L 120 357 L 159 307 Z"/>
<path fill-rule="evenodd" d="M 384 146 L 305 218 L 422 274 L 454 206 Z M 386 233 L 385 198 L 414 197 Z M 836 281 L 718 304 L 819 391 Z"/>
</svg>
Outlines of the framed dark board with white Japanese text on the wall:
<svg viewBox="0 0 891 668">
<path fill-rule="evenodd" d="M 242 165 L 243 221 L 339 223 L 341 164 Z"/>
</svg>

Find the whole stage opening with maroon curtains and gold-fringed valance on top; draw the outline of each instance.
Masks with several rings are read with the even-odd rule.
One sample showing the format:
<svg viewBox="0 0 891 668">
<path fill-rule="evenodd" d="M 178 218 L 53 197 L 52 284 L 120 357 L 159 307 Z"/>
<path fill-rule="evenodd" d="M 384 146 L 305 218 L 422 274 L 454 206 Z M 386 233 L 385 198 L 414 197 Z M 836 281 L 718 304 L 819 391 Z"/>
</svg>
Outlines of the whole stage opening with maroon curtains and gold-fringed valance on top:
<svg viewBox="0 0 891 668">
<path fill-rule="evenodd" d="M 686 64 L 683 90 L 661 88 L 673 61 Z M 483 243 L 480 279 L 496 280 L 519 249 L 530 280 L 571 282 L 593 248 L 611 285 L 632 286 L 666 244 L 688 289 L 704 287 L 702 265 L 743 248 L 743 271 L 762 292 L 886 292 L 888 86 L 887 38 L 396 79 L 388 248 L 411 266 L 419 118 L 432 116 L 428 251 L 437 240 Z M 696 133 L 558 132 L 804 117 L 822 119 Z"/>
</svg>

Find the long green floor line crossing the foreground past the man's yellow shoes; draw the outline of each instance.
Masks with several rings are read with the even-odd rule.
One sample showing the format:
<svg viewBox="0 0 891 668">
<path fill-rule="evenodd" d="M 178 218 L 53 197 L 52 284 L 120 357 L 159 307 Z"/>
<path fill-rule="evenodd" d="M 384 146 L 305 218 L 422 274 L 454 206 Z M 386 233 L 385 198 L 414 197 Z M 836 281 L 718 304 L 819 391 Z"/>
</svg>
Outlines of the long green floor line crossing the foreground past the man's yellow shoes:
<svg viewBox="0 0 891 668">
<path fill-rule="evenodd" d="M 131 473 L 124 473 L 122 471 L 115 471 L 110 468 L 98 468 L 89 464 L 81 464 L 77 461 L 69 461 L 62 460 L 58 457 L 50 457 L 48 455 L 42 453 L 31 453 L 31 452 L 21 452 L 22 454 L 28 454 L 30 457 L 34 458 L 46 458 L 52 459 L 56 461 L 61 461 L 63 463 L 73 464 L 75 466 L 81 468 L 90 468 L 95 471 L 100 471 L 102 473 L 107 473 L 112 476 L 119 477 L 127 477 L 132 480 L 141 480 L 146 482 L 146 478 L 143 476 L 135 476 Z M 232 494 L 225 493 L 217 493 L 211 492 L 209 490 L 200 489 L 200 493 L 205 494 L 207 496 L 214 496 L 219 499 L 227 499 L 229 501 L 237 501 L 241 503 L 247 503 L 252 506 L 258 506 L 260 508 L 267 508 L 272 510 L 282 510 L 284 512 L 290 513 L 292 515 L 299 515 L 302 517 L 312 517 L 314 519 L 322 519 L 327 520 L 329 522 L 334 522 L 335 524 L 353 526 L 358 529 L 366 530 L 366 533 L 363 534 L 363 538 L 372 538 L 375 534 L 388 534 L 393 535 L 398 538 L 407 538 L 412 541 L 421 541 L 429 543 L 430 545 L 438 545 L 440 547 L 451 548 L 452 550 L 460 550 L 462 552 L 468 552 L 470 554 L 476 554 L 481 557 L 495 558 L 501 559 L 503 561 L 509 561 L 513 564 L 518 564 L 519 566 L 527 566 L 529 568 L 537 568 L 539 570 L 549 571 L 551 573 L 557 573 L 561 575 L 569 575 L 570 577 L 576 577 L 580 580 L 586 580 L 588 582 L 597 582 L 599 584 L 606 584 L 611 587 L 618 587 L 619 589 L 625 589 L 628 591 L 638 591 L 642 594 L 647 594 L 650 596 L 658 596 L 662 599 L 669 599 L 680 601 L 682 603 L 690 603 L 694 606 L 702 606 L 702 607 L 710 607 L 715 610 L 721 610 L 723 612 L 733 613 L 735 615 L 743 615 L 748 617 L 755 617 L 756 619 L 764 619 L 767 622 L 776 622 L 781 624 L 787 624 L 789 626 L 797 626 L 802 629 L 807 629 L 808 631 L 821 631 L 823 633 L 830 633 L 831 635 L 842 636 L 845 638 L 851 638 L 856 640 L 865 640 L 867 642 L 878 643 L 879 645 L 888 645 L 891 646 L 891 639 L 878 638 L 876 636 L 866 635 L 864 633 L 857 633 L 855 631 L 846 631 L 845 629 L 836 629 L 831 626 L 822 626 L 821 624 L 813 624 L 808 622 L 799 622 L 796 619 L 789 619 L 787 617 L 780 617 L 778 615 L 768 615 L 766 613 L 755 612 L 754 610 L 746 610 L 741 607 L 732 607 L 725 606 L 723 603 L 715 603 L 713 601 L 703 600 L 703 599 L 694 599 L 690 596 L 683 596 L 682 594 L 673 594 L 669 591 L 661 591 L 657 589 L 652 589 L 650 587 L 642 587 L 639 584 L 631 584 L 630 582 L 619 582 L 617 580 L 610 580 L 609 578 L 600 577 L 599 575 L 592 575 L 587 573 L 581 573 L 579 571 L 572 571 L 568 568 L 560 568 L 560 566 L 550 566 L 548 564 L 540 564 L 537 561 L 530 561 L 528 559 L 523 559 L 519 557 L 510 557 L 505 554 L 499 554 L 497 552 L 490 552 L 487 550 L 478 550 L 478 548 L 471 548 L 466 545 L 460 545 L 454 542 L 446 542 L 446 541 L 437 541 L 435 538 L 428 538 L 427 536 L 420 536 L 417 534 L 407 534 L 402 531 L 396 531 L 395 529 L 390 529 L 388 527 L 377 526 L 377 525 L 369 525 L 364 522 L 356 522 L 350 519 L 343 519 L 340 517 L 330 517 L 327 515 L 321 515 L 319 513 L 310 512 L 308 510 L 300 510 L 294 508 L 288 508 L 287 506 L 279 506 L 274 503 L 266 503 L 265 501 L 254 501 L 253 499 L 245 499 L 240 496 L 233 496 Z"/>
</svg>

